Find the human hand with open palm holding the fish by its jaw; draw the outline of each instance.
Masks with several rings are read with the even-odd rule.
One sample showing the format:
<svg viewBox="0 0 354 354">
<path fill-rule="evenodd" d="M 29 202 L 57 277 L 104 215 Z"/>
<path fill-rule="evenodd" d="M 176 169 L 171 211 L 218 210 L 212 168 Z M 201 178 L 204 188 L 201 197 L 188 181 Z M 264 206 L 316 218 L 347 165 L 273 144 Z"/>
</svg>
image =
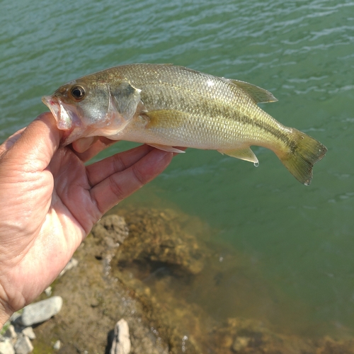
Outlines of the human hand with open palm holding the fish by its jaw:
<svg viewBox="0 0 354 354">
<path fill-rule="evenodd" d="M 78 153 L 58 148 L 60 136 L 43 113 L 0 145 L 0 328 L 55 280 L 110 207 L 173 156 L 142 145 L 85 166 L 112 142 L 98 139 Z"/>
</svg>

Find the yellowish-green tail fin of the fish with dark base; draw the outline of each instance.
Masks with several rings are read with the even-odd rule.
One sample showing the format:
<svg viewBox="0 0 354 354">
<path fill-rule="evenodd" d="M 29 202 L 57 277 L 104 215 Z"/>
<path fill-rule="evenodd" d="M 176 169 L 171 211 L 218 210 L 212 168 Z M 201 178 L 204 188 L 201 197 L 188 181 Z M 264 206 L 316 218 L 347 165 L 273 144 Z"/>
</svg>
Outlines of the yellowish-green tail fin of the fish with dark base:
<svg viewBox="0 0 354 354">
<path fill-rule="evenodd" d="M 309 185 L 312 180 L 312 167 L 327 152 L 324 145 L 309 135 L 294 129 L 295 138 L 287 152 L 275 152 L 282 164 L 297 181 Z"/>
</svg>

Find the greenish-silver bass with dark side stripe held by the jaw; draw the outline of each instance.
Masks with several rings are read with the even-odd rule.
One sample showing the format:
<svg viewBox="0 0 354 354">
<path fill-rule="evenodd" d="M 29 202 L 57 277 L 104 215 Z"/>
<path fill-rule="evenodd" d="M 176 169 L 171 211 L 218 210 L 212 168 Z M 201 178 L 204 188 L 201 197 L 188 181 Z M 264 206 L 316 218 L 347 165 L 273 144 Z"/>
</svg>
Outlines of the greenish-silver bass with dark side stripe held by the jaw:
<svg viewBox="0 0 354 354">
<path fill-rule="evenodd" d="M 237 159 L 258 159 L 251 146 L 273 151 L 304 185 L 326 147 L 282 125 L 258 103 L 272 93 L 173 64 L 125 64 L 82 76 L 42 102 L 63 130 L 62 146 L 103 136 L 151 145 L 167 152 L 181 147 L 215 149 Z"/>
</svg>

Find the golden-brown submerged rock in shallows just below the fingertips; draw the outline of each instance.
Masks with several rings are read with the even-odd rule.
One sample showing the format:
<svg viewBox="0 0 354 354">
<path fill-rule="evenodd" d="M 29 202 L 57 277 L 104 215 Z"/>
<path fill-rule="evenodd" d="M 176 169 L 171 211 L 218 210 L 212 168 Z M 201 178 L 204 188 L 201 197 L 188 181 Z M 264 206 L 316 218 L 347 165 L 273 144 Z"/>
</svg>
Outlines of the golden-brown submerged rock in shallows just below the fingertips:
<svg viewBox="0 0 354 354">
<path fill-rule="evenodd" d="M 173 210 L 141 208 L 125 214 L 129 237 L 118 249 L 118 262 L 163 263 L 177 272 L 196 275 L 208 251 L 183 230 Z"/>
</svg>

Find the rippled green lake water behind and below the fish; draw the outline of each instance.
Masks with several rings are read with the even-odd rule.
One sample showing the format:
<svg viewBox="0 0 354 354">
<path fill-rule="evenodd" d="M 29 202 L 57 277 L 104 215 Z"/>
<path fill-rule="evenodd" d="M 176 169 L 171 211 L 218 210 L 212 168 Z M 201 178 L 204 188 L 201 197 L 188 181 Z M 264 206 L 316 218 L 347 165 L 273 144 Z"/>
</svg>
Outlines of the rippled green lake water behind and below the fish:
<svg viewBox="0 0 354 354">
<path fill-rule="evenodd" d="M 279 102 L 263 109 L 329 149 L 312 185 L 266 149 L 253 149 L 257 169 L 189 149 L 134 198 L 155 195 L 205 220 L 225 254 L 236 249 L 261 275 L 263 285 L 257 278 L 244 289 L 226 272 L 214 295 L 190 294 L 213 316 L 266 318 L 309 335 L 353 332 L 353 1 L 1 0 L 0 8 L 0 141 L 46 110 L 41 96 L 118 64 L 179 64 L 271 91 Z M 254 306 L 242 307 L 239 293 Z"/>
</svg>

